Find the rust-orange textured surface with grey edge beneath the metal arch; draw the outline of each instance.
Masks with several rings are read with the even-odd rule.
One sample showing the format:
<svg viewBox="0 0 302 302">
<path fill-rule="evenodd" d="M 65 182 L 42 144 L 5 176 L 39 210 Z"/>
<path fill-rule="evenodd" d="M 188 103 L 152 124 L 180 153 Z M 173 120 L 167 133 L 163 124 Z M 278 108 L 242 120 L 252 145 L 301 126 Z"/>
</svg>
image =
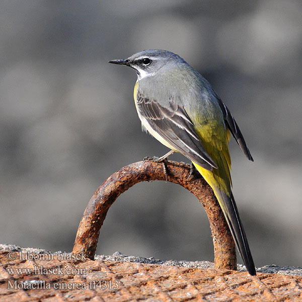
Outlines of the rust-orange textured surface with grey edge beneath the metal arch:
<svg viewBox="0 0 302 302">
<path fill-rule="evenodd" d="M 62 260 L 58 260 L 60 255 L 63 256 Z M 54 255 L 40 249 L 0 245 L 0 300 L 4 302 L 302 300 L 302 277 L 281 274 L 282 272 L 301 274 L 301 268 L 264 267 L 257 269 L 256 277 L 251 277 L 243 271 L 209 269 L 213 267 L 213 263 L 207 261 L 162 261 L 153 258 L 124 257 L 121 253 L 115 253 L 115 256 L 97 256 L 96 261 L 69 260 L 67 258 L 70 255 L 62 253 Z M 47 258 L 46 256 L 52 259 L 41 259 Z M 12 259 L 14 257 L 16 259 Z M 115 261 L 110 261 L 114 259 Z M 22 269 L 33 271 L 30 273 Z M 35 269 L 36 272 L 38 269 L 40 272 L 43 270 L 43 273 L 35 274 L 33 273 Z M 266 273 L 267 270 L 276 274 Z M 13 288 L 8 288 L 9 284 Z M 66 286 L 70 288 L 67 289 Z"/>
</svg>

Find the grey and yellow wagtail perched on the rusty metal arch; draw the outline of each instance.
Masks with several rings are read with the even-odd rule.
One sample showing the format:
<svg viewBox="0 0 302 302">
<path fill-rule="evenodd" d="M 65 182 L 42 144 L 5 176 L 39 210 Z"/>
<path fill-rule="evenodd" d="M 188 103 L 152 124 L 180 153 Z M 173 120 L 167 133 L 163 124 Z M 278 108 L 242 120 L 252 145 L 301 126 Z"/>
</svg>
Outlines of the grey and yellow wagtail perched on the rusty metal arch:
<svg viewBox="0 0 302 302">
<path fill-rule="evenodd" d="M 256 275 L 232 193 L 231 133 L 254 160 L 228 107 L 196 69 L 171 51 L 146 49 L 109 63 L 136 71 L 133 95 L 142 129 L 171 149 L 161 160 L 181 153 L 211 186 L 248 272 Z"/>
</svg>

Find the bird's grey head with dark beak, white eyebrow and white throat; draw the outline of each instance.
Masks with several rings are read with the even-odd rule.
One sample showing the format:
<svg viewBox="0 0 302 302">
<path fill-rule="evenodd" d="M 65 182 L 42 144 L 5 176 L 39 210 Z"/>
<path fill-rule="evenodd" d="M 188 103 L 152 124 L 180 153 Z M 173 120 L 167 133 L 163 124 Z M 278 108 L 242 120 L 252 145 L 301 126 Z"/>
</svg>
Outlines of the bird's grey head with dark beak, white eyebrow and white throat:
<svg viewBox="0 0 302 302">
<path fill-rule="evenodd" d="M 145 49 L 126 59 L 111 60 L 109 63 L 126 65 L 137 73 L 137 79 L 155 74 L 164 66 L 175 66 L 179 63 L 187 64 L 179 55 L 163 49 Z"/>
</svg>

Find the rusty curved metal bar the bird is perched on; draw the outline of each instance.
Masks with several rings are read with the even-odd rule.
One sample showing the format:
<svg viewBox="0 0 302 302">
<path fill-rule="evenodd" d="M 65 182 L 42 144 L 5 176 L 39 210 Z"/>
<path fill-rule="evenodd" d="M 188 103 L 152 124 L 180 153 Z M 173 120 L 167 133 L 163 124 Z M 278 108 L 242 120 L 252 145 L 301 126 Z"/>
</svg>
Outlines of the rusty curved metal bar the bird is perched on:
<svg viewBox="0 0 302 302">
<path fill-rule="evenodd" d="M 165 161 L 168 181 L 193 193 L 202 203 L 210 222 L 215 268 L 237 269 L 235 243 L 218 201 L 206 181 L 196 172 L 189 180 L 190 168 L 184 163 Z M 94 260 L 100 229 L 107 211 L 117 197 L 138 182 L 166 180 L 161 163 L 142 161 L 112 174 L 90 199 L 75 237 L 73 254 L 85 254 Z"/>
</svg>

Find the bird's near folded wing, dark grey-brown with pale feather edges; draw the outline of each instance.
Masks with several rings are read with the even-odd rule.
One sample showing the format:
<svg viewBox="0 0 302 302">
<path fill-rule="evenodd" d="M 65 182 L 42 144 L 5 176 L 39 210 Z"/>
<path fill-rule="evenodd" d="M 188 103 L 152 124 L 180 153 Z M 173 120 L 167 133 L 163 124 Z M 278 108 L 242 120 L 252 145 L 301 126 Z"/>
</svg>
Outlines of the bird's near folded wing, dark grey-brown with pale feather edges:
<svg viewBox="0 0 302 302">
<path fill-rule="evenodd" d="M 173 98 L 162 106 L 157 100 L 136 96 L 138 113 L 152 129 L 169 142 L 175 150 L 206 170 L 217 168 L 204 149 L 185 109 Z"/>
</svg>

